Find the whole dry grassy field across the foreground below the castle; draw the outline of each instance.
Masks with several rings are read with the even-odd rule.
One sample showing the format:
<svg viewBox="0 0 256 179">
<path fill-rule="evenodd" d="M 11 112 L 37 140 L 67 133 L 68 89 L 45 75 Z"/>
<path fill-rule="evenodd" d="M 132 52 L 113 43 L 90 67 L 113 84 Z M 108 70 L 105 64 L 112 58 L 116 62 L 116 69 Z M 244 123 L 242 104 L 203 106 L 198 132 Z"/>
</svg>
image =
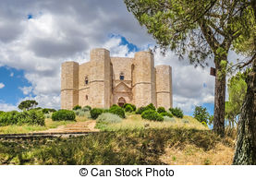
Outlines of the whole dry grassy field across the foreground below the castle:
<svg viewBox="0 0 256 179">
<path fill-rule="evenodd" d="M 232 163 L 236 137 L 233 130 L 227 130 L 226 137 L 220 138 L 189 116 L 175 118 L 175 122 L 152 122 L 143 120 L 134 113 L 126 115 L 127 119 L 121 123 L 98 124 L 97 127 L 102 132 L 86 137 L 2 139 L 0 164 Z M 77 119 L 82 120 L 88 119 Z M 67 122 L 52 122 L 47 119 L 46 124 L 45 127 L 50 128 L 67 125 Z M 32 129 L 44 130 L 25 127 L 19 132 Z"/>
</svg>

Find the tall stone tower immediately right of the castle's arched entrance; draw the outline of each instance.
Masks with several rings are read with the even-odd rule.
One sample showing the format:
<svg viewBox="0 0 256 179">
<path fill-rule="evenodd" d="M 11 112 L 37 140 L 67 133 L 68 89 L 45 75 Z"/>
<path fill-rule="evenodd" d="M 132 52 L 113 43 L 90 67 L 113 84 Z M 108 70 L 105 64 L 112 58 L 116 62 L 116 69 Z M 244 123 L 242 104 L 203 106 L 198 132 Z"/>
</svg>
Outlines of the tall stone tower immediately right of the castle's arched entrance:
<svg viewBox="0 0 256 179">
<path fill-rule="evenodd" d="M 132 66 L 133 103 L 140 107 L 153 103 L 155 97 L 155 70 L 153 54 L 139 52 L 135 54 Z"/>
</svg>

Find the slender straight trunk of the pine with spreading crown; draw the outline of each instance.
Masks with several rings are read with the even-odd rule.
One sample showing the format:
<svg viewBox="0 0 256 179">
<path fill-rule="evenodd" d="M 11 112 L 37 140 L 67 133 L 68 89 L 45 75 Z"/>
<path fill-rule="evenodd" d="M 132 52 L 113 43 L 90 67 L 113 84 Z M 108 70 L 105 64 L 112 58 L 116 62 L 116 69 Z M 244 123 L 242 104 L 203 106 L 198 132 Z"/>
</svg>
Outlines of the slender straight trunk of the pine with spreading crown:
<svg viewBox="0 0 256 179">
<path fill-rule="evenodd" d="M 226 61 L 225 56 L 222 58 Z M 224 136 L 225 133 L 225 98 L 226 98 L 226 72 L 222 72 L 223 66 L 220 66 L 220 60 L 215 60 L 216 77 L 214 91 L 214 115 L 213 131 Z"/>
</svg>

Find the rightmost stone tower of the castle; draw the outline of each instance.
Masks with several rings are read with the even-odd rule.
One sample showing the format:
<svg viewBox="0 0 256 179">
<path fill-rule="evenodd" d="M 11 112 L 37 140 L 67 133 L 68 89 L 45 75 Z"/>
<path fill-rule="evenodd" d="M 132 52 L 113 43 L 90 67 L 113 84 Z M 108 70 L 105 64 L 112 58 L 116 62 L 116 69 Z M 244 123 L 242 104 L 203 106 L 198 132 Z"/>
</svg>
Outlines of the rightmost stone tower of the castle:
<svg viewBox="0 0 256 179">
<path fill-rule="evenodd" d="M 156 101 L 157 107 L 165 107 L 168 110 L 173 107 L 172 94 L 172 67 L 155 66 L 156 69 Z"/>
</svg>

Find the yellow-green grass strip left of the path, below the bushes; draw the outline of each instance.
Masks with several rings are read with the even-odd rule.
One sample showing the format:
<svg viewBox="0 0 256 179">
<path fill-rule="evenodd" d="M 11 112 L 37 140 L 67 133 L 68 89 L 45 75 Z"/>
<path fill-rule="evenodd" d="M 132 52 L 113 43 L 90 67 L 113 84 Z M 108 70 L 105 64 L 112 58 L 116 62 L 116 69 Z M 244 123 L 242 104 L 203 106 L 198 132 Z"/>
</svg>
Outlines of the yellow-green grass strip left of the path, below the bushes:
<svg viewBox="0 0 256 179">
<path fill-rule="evenodd" d="M 7 125 L 0 126 L 0 134 L 22 134 L 35 131 L 44 131 L 50 128 L 56 128 L 60 125 L 74 124 L 88 120 L 86 117 L 76 117 L 76 121 L 53 121 L 50 118 L 45 119 L 45 125 Z"/>
</svg>

